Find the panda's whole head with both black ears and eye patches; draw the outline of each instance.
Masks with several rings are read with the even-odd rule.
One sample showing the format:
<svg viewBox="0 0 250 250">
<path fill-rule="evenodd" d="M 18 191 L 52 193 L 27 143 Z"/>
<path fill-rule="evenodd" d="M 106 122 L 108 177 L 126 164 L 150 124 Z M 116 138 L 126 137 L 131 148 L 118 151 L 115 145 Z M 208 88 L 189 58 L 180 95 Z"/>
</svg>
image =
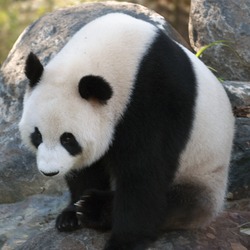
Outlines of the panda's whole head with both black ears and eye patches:
<svg viewBox="0 0 250 250">
<path fill-rule="evenodd" d="M 65 174 L 100 158 L 113 133 L 109 83 L 101 76 L 85 75 L 77 88 L 58 86 L 60 76 L 51 84 L 53 70 L 45 70 L 33 53 L 25 74 L 29 89 L 19 128 L 25 144 L 37 153 L 39 171 L 46 176 Z"/>
</svg>

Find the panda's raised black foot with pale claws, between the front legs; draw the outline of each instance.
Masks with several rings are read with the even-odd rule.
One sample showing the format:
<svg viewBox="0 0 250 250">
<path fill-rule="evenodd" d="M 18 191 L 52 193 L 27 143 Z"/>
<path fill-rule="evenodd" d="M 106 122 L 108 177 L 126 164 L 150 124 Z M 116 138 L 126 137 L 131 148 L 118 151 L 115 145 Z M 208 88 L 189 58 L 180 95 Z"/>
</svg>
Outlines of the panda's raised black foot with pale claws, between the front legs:
<svg viewBox="0 0 250 250">
<path fill-rule="evenodd" d="M 109 230 L 112 224 L 113 192 L 90 190 L 75 203 L 76 216 L 84 227 Z"/>
</svg>

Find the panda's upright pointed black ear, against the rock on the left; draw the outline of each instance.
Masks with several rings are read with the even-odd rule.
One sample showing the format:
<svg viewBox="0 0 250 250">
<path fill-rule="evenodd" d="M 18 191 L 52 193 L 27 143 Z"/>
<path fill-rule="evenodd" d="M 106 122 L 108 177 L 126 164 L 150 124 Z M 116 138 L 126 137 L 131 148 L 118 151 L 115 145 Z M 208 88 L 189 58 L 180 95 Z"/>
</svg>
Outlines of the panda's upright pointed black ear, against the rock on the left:
<svg viewBox="0 0 250 250">
<path fill-rule="evenodd" d="M 26 59 L 25 64 L 25 75 L 30 81 L 30 87 L 33 88 L 40 80 L 42 74 L 43 74 L 43 65 L 41 64 L 38 57 L 30 52 Z"/>
</svg>

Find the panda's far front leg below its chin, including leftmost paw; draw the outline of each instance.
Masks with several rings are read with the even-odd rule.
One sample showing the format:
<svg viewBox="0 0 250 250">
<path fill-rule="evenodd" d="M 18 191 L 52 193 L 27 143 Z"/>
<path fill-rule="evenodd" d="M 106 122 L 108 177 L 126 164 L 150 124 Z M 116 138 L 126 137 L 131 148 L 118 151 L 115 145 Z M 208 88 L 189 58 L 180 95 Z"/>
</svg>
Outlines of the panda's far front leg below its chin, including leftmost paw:
<svg viewBox="0 0 250 250">
<path fill-rule="evenodd" d="M 58 215 L 56 228 L 59 231 L 74 231 L 84 226 L 77 216 L 75 204 L 90 190 L 109 192 L 110 177 L 101 162 L 97 162 L 88 168 L 71 171 L 66 176 L 66 182 L 71 195 L 70 203 Z"/>
</svg>

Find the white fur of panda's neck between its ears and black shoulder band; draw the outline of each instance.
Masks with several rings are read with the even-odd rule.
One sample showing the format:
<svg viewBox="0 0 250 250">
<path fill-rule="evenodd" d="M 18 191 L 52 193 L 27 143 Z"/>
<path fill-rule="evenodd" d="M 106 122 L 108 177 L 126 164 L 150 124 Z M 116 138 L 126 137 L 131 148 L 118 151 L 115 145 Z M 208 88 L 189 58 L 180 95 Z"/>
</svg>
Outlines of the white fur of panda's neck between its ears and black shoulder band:
<svg viewBox="0 0 250 250">
<path fill-rule="evenodd" d="M 46 66 L 44 78 L 60 88 L 77 88 L 84 75 L 104 78 L 113 89 L 106 106 L 117 120 L 130 99 L 140 62 L 157 28 L 122 13 L 101 16 L 82 27 Z M 45 82 L 50 82 L 49 80 Z"/>
</svg>

